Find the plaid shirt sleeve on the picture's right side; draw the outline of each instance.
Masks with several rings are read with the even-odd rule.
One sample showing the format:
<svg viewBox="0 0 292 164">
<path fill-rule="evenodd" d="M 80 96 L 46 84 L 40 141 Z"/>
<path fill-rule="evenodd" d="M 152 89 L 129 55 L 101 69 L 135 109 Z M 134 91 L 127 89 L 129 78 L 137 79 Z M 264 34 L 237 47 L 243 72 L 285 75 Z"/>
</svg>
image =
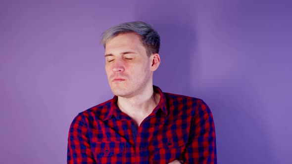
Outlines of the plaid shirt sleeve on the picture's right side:
<svg viewBox="0 0 292 164">
<path fill-rule="evenodd" d="M 205 102 L 199 100 L 197 104 L 184 161 L 186 164 L 217 164 L 213 116 Z"/>
</svg>

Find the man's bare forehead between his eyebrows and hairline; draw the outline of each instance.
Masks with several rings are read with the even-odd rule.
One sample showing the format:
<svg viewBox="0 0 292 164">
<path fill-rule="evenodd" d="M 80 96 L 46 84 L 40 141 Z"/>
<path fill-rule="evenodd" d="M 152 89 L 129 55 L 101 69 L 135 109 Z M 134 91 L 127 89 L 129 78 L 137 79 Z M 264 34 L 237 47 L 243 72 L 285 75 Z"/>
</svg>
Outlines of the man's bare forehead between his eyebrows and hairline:
<svg viewBox="0 0 292 164">
<path fill-rule="evenodd" d="M 107 41 L 105 53 L 112 53 L 116 50 L 145 50 L 141 37 L 136 33 L 123 33 Z"/>
</svg>

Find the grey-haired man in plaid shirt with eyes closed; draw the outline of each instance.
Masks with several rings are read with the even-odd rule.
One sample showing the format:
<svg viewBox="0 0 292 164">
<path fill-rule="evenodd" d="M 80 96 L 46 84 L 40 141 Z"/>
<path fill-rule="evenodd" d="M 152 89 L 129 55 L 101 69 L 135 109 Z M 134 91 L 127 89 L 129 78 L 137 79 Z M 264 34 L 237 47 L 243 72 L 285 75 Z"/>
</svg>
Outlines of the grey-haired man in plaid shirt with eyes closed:
<svg viewBox="0 0 292 164">
<path fill-rule="evenodd" d="M 144 22 L 128 22 L 104 32 L 102 43 L 115 96 L 73 120 L 68 164 L 216 164 L 208 106 L 152 84 L 160 64 L 158 33 Z"/>
</svg>

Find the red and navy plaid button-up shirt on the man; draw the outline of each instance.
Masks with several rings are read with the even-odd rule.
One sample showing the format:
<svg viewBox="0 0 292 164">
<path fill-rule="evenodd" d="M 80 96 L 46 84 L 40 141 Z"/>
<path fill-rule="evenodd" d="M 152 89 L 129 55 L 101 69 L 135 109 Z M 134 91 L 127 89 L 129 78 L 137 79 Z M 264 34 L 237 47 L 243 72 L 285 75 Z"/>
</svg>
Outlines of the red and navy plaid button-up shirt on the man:
<svg viewBox="0 0 292 164">
<path fill-rule="evenodd" d="M 79 113 L 71 123 L 68 164 L 217 164 L 213 117 L 193 97 L 162 92 L 159 104 L 138 127 L 118 108 L 117 96 Z"/>
</svg>

